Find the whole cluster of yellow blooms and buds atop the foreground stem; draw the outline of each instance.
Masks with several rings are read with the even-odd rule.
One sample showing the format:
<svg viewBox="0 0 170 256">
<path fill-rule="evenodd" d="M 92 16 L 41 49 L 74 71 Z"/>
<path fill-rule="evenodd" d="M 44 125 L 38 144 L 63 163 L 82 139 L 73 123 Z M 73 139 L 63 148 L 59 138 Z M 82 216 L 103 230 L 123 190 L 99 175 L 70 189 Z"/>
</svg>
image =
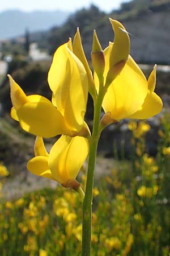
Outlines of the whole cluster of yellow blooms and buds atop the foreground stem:
<svg viewBox="0 0 170 256">
<path fill-rule="evenodd" d="M 94 32 L 93 75 L 84 55 L 79 30 L 73 44 L 69 39 L 56 50 L 48 73 L 51 101 L 40 95 L 26 96 L 8 75 L 13 105 L 11 117 L 19 121 L 23 130 L 37 136 L 35 157 L 29 160 L 28 170 L 57 180 L 65 187 L 78 187 L 75 178 L 88 155 L 91 135 L 84 122 L 88 92 L 95 103 L 102 91 L 102 106 L 107 117 L 105 126 L 122 118 L 145 119 L 162 110 L 162 100 L 154 92 L 156 66 L 146 80 L 129 55 L 128 32 L 117 20 L 110 20 L 114 43 L 104 51 Z M 48 153 L 42 137 L 56 135 L 61 137 Z"/>
</svg>

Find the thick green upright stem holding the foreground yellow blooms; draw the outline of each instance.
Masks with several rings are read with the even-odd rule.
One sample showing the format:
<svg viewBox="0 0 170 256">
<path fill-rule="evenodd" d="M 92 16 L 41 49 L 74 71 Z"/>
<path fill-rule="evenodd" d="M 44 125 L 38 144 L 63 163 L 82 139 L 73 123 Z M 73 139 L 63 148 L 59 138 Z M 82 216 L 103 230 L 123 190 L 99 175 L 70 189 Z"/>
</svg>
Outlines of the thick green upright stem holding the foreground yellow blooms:
<svg viewBox="0 0 170 256">
<path fill-rule="evenodd" d="M 91 217 L 92 217 L 92 191 L 94 187 L 94 172 L 96 163 L 97 145 L 100 138 L 100 114 L 103 101 L 103 80 L 100 81 L 100 90 L 94 104 L 94 126 L 90 142 L 88 159 L 88 171 L 86 182 L 86 193 L 83 201 L 83 236 L 82 236 L 82 256 L 91 256 Z"/>
</svg>

